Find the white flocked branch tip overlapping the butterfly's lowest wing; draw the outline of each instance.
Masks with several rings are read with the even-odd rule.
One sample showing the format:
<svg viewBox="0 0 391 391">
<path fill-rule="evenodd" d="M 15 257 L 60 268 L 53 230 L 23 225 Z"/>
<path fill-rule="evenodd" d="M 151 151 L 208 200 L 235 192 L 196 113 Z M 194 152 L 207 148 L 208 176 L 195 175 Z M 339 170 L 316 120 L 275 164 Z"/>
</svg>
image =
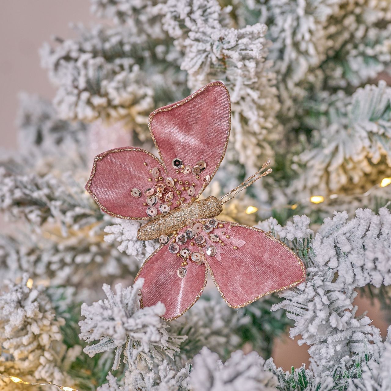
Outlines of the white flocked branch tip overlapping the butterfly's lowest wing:
<svg viewBox="0 0 391 391">
<path fill-rule="evenodd" d="M 144 280 L 138 279 L 133 287 L 115 286 L 115 293 L 109 285 L 103 285 L 107 299 L 99 300 L 88 306 L 81 306 L 81 314 L 86 319 L 80 321 L 81 339 L 87 342 L 98 341 L 86 346 L 84 352 L 90 357 L 97 353 L 116 349 L 112 369 L 120 364 L 122 352 L 125 361 L 133 362 L 138 356 L 152 367 L 152 359 L 159 360 L 165 355 L 174 358 L 179 345 L 186 336 L 172 335 L 160 318 L 165 312 L 164 304 L 140 308 L 139 291 Z"/>
</svg>

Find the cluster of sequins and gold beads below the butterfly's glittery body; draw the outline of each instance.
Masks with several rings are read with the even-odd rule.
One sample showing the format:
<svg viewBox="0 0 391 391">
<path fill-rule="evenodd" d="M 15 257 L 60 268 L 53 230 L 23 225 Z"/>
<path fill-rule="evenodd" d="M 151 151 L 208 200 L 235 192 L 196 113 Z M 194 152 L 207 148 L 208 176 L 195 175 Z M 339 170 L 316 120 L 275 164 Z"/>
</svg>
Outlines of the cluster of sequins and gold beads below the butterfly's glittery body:
<svg viewBox="0 0 391 391">
<path fill-rule="evenodd" d="M 217 245 L 225 246 L 222 239 L 219 235 L 213 233 L 212 231 L 215 228 L 224 228 L 224 224 L 219 223 L 216 219 L 212 218 L 208 221 L 197 221 L 193 224 L 192 228 L 186 228 L 182 233 L 177 234 L 176 231 L 172 233 L 172 240 L 170 243 L 170 237 L 168 235 L 160 235 L 159 242 L 161 245 L 169 245 L 169 252 L 171 254 L 176 254 L 176 256 L 181 258 L 181 267 L 178 268 L 177 274 L 179 278 L 184 278 L 186 276 L 186 266 L 188 265 L 188 260 L 191 260 L 197 265 L 202 265 L 205 262 L 205 255 L 201 248 L 205 249 L 205 253 L 208 256 L 215 256 L 217 254 Z M 221 232 L 224 235 L 224 231 Z M 226 235 L 226 238 L 230 238 L 230 235 Z M 185 245 L 190 240 L 190 247 L 197 246 L 196 251 L 192 251 Z M 207 246 L 208 240 L 213 244 Z M 184 246 L 180 248 L 179 246 Z M 233 247 L 237 249 L 236 246 Z"/>
</svg>

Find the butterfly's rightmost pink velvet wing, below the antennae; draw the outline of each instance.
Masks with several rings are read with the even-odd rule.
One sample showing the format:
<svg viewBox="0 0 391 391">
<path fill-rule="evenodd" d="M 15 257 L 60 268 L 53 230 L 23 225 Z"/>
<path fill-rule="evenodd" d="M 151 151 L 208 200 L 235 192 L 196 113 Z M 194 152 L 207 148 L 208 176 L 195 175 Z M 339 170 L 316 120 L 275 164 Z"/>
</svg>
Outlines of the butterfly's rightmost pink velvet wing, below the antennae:
<svg viewBox="0 0 391 391">
<path fill-rule="evenodd" d="M 305 280 L 303 262 L 280 240 L 258 228 L 226 221 L 219 223 L 223 227 L 215 228 L 213 234 L 224 246 L 213 243 L 216 255 L 206 255 L 205 262 L 230 307 L 244 307 Z"/>
</svg>

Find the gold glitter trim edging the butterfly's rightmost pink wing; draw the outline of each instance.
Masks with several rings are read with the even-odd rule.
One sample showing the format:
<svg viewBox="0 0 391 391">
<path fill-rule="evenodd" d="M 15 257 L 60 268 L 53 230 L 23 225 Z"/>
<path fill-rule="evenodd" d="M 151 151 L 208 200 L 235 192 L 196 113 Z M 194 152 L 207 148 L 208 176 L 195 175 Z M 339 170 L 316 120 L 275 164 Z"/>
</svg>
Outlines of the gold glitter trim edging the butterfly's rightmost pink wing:
<svg viewBox="0 0 391 391">
<path fill-rule="evenodd" d="M 283 243 L 281 240 L 278 240 L 277 238 L 275 238 L 273 235 L 271 235 L 270 233 L 268 232 L 265 232 L 263 230 L 260 230 L 259 228 L 256 228 L 256 227 L 250 227 L 248 225 L 245 225 L 245 224 L 238 224 L 238 223 L 234 223 L 234 222 L 231 222 L 231 221 L 221 221 L 219 220 L 219 223 L 222 223 L 222 224 L 229 224 L 229 226 L 237 226 L 237 227 L 244 227 L 244 228 L 249 228 L 250 230 L 254 230 L 254 231 L 258 231 L 258 232 L 262 232 L 264 233 L 265 235 L 267 235 L 270 239 L 274 240 L 275 242 L 277 243 L 280 243 L 282 244 L 286 249 L 288 249 L 288 251 L 295 256 L 296 260 L 298 261 L 298 264 L 300 265 L 300 268 L 301 268 L 301 271 L 303 273 L 303 276 L 302 278 L 300 278 L 300 280 L 297 280 L 289 285 L 286 285 L 285 287 L 281 287 L 281 288 L 278 288 L 278 289 L 274 289 L 273 291 L 269 291 L 269 292 L 266 292 L 266 293 L 262 293 L 258 296 L 256 296 L 255 298 L 249 300 L 249 301 L 246 301 L 246 303 L 243 303 L 243 304 L 239 304 L 239 305 L 231 305 L 230 303 L 228 303 L 227 299 L 225 298 L 224 296 L 224 293 L 221 291 L 220 289 L 220 286 L 219 284 L 217 283 L 217 281 L 215 280 L 215 276 L 213 274 L 213 271 L 212 271 L 212 268 L 209 266 L 208 264 L 208 261 L 205 260 L 205 264 L 206 264 L 206 268 L 209 270 L 209 273 L 212 277 L 212 280 L 213 282 L 215 283 L 216 287 L 217 287 L 217 290 L 219 291 L 221 297 L 223 298 L 223 300 L 227 303 L 228 307 L 231 307 L 231 308 L 242 308 L 242 307 L 246 307 L 246 305 L 249 305 L 251 303 L 253 303 L 254 301 L 260 299 L 261 297 L 263 296 L 266 296 L 268 294 L 271 294 L 271 293 L 274 293 L 274 292 L 280 292 L 280 291 L 284 291 L 285 289 L 289 289 L 289 288 L 292 288 L 298 284 L 300 284 L 301 282 L 303 282 L 305 280 L 305 266 L 303 264 L 303 261 L 299 258 L 299 256 L 294 252 L 292 251 L 292 249 L 290 249 L 285 243 Z M 239 255 L 240 253 L 238 253 Z M 205 257 L 206 258 L 206 257 Z"/>
</svg>

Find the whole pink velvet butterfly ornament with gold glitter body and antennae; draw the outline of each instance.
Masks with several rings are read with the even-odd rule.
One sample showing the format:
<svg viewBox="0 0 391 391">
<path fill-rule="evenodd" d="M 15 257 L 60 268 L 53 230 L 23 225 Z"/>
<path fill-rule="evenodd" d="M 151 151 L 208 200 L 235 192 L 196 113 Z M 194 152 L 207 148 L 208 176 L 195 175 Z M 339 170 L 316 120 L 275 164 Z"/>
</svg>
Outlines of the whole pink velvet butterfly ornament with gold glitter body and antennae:
<svg viewBox="0 0 391 391">
<path fill-rule="evenodd" d="M 221 82 L 149 116 L 160 159 L 144 149 L 111 149 L 94 159 L 86 190 L 114 217 L 151 220 L 138 239 L 161 246 L 145 260 L 141 306 L 161 301 L 167 321 L 200 298 L 208 271 L 224 301 L 244 307 L 305 280 L 300 258 L 270 233 L 216 218 L 222 205 L 271 172 L 262 168 L 228 194 L 199 199 L 224 158 L 231 128 L 231 103 Z M 264 171 L 264 172 L 262 172 Z"/>
</svg>

